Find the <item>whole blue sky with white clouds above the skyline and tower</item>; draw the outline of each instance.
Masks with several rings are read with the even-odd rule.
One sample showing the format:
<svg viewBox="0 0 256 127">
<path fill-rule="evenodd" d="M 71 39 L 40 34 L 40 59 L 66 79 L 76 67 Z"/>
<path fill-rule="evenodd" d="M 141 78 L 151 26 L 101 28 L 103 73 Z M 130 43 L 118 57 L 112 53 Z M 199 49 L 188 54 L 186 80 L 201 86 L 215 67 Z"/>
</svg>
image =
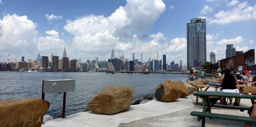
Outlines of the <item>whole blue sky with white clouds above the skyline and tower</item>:
<svg viewBox="0 0 256 127">
<path fill-rule="evenodd" d="M 186 63 L 186 23 L 207 18 L 207 60 L 225 58 L 225 45 L 256 47 L 256 0 L 0 0 L 1 61 L 50 54 L 86 61 L 132 52 L 143 61 Z M 121 6 L 121 7 L 120 7 Z M 111 15 L 112 14 L 112 15 Z M 47 19 L 48 18 L 48 19 Z"/>
</svg>

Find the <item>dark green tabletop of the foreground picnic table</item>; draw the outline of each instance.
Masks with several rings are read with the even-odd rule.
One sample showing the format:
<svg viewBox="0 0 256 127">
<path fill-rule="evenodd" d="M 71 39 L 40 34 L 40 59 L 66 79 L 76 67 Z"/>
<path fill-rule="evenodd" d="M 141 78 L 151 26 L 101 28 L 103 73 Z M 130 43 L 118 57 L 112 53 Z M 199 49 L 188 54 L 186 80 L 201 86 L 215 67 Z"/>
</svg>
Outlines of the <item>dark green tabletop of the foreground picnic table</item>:
<svg viewBox="0 0 256 127">
<path fill-rule="evenodd" d="M 201 97 L 227 97 L 227 98 L 241 98 L 241 99 L 256 99 L 255 95 L 245 95 L 241 93 L 227 93 L 227 92 L 212 92 L 212 91 L 198 91 L 194 93 L 195 96 Z"/>
</svg>

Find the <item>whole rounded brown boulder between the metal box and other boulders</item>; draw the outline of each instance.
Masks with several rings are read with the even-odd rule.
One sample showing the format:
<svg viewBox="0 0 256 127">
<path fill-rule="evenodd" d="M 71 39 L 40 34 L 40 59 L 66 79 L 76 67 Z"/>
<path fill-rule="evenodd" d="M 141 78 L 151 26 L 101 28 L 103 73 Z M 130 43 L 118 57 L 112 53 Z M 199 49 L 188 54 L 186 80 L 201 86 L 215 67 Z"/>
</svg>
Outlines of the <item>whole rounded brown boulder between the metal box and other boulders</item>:
<svg viewBox="0 0 256 127">
<path fill-rule="evenodd" d="M 89 102 L 88 108 L 97 114 L 115 114 L 131 107 L 132 87 L 109 86 L 102 89 Z"/>
</svg>

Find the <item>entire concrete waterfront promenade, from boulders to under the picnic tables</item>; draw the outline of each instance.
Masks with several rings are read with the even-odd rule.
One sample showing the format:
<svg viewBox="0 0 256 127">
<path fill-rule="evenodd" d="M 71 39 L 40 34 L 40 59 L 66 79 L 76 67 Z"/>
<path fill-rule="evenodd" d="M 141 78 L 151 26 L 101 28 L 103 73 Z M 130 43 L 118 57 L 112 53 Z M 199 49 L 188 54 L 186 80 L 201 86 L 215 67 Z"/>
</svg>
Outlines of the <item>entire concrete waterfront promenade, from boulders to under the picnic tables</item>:
<svg viewBox="0 0 256 127">
<path fill-rule="evenodd" d="M 210 89 L 211 90 L 211 89 Z M 212 89 L 215 90 L 215 89 Z M 199 100 L 199 103 L 201 99 Z M 241 99 L 241 106 L 251 106 L 248 99 Z M 114 115 L 99 115 L 92 112 L 82 112 L 67 116 L 65 119 L 54 119 L 42 124 L 42 127 L 199 127 L 201 121 L 197 117 L 190 116 L 192 111 L 202 111 L 202 106 L 195 104 L 195 96 L 192 94 L 175 102 L 159 102 L 152 100 L 145 104 L 132 105 L 128 111 Z M 212 108 L 213 113 L 248 116 L 247 111 Z M 242 122 L 225 121 L 219 119 L 206 119 L 207 127 L 241 127 Z"/>
</svg>

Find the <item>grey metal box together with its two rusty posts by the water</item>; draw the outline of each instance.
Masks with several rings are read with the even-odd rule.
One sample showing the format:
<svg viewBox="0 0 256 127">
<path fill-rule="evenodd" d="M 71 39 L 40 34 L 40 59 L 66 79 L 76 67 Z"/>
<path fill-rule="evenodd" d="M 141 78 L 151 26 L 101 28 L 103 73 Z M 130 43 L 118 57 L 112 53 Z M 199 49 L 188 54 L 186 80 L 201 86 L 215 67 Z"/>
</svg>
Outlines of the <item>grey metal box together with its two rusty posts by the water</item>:
<svg viewBox="0 0 256 127">
<path fill-rule="evenodd" d="M 66 93 L 69 91 L 75 91 L 75 82 L 76 80 L 74 79 L 43 80 L 42 100 L 44 100 L 45 93 L 63 92 L 63 107 L 61 118 L 65 118 Z"/>
</svg>

